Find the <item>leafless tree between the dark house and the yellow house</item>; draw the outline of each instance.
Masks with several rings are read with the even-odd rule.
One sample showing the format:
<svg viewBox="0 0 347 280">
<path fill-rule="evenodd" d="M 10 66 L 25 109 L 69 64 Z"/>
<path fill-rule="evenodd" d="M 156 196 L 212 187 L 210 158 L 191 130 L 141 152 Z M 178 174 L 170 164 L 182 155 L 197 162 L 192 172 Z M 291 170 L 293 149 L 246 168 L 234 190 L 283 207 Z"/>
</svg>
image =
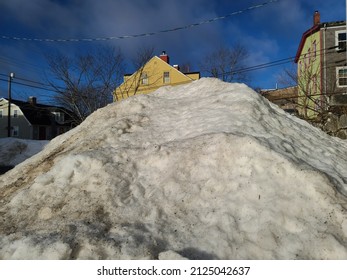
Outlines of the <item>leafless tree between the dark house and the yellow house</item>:
<svg viewBox="0 0 347 280">
<path fill-rule="evenodd" d="M 49 80 L 55 89 L 54 101 L 72 112 L 76 124 L 81 123 L 95 110 L 112 102 L 112 91 L 124 73 L 121 51 L 101 48 L 86 54 L 69 57 L 62 54 L 47 56 Z"/>
</svg>

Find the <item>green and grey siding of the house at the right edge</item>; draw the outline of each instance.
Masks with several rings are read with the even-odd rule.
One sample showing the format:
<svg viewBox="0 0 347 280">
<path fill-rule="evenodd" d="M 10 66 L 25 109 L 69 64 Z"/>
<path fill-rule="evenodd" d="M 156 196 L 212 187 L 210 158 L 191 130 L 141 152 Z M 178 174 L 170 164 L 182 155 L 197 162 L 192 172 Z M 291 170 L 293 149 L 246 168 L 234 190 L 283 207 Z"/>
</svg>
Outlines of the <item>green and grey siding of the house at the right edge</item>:
<svg viewBox="0 0 347 280">
<path fill-rule="evenodd" d="M 345 22 L 322 23 L 306 31 L 301 39 L 296 56 L 298 111 L 305 118 L 315 119 L 326 109 L 347 105 L 347 87 L 337 83 L 337 67 L 346 66 L 346 50 L 336 48 L 339 31 L 346 32 Z M 316 42 L 317 53 L 320 55 L 308 63 L 307 57 L 313 50 L 313 42 Z"/>
</svg>

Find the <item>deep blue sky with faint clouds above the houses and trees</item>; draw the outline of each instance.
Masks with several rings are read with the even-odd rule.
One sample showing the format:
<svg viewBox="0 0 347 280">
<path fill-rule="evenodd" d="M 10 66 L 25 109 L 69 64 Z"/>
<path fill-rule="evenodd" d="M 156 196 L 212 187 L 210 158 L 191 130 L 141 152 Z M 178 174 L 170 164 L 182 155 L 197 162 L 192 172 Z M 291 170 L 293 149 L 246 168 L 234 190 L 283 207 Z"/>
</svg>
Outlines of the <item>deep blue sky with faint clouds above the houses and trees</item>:
<svg viewBox="0 0 347 280">
<path fill-rule="evenodd" d="M 189 62 L 199 71 L 199 61 L 219 46 L 244 45 L 249 66 L 295 56 L 302 33 L 312 26 L 318 10 L 322 22 L 345 20 L 345 0 L 278 0 L 224 20 L 149 37 L 105 42 L 34 42 L 19 38 L 100 38 L 156 32 L 224 16 L 267 0 L 0 0 L 0 97 L 7 96 L 7 76 L 45 83 L 45 55 L 59 51 L 74 55 L 99 46 L 119 47 L 130 65 L 136 51 L 153 46 L 165 50 L 172 64 Z M 283 64 L 249 72 L 251 87 L 274 88 Z M 129 71 L 132 71 L 129 67 Z M 4 81 L 5 80 L 5 81 Z M 22 83 L 23 80 L 21 80 Z M 18 84 L 13 98 L 52 92 Z"/>
</svg>

